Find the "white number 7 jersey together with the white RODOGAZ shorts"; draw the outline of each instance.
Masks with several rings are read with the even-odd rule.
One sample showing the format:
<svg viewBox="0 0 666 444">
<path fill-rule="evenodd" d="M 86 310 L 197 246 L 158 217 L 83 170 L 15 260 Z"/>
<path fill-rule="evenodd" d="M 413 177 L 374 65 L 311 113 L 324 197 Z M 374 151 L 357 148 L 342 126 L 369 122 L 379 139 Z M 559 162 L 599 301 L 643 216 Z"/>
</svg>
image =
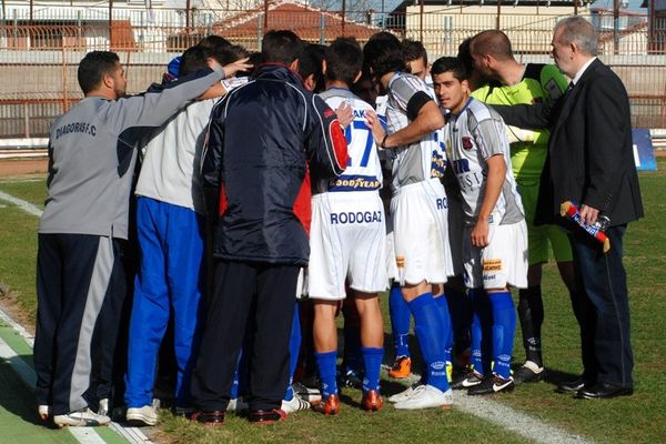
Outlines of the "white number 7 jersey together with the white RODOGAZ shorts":
<svg viewBox="0 0 666 444">
<path fill-rule="evenodd" d="M 314 184 L 310 297 L 344 299 L 345 282 L 359 292 L 382 292 L 389 283 L 383 266 L 386 228 L 379 192 L 382 167 L 365 120 L 372 107 L 342 88 L 331 88 L 320 97 L 334 110 L 347 102 L 354 120 L 345 130 L 350 161 L 344 173 Z"/>
</svg>

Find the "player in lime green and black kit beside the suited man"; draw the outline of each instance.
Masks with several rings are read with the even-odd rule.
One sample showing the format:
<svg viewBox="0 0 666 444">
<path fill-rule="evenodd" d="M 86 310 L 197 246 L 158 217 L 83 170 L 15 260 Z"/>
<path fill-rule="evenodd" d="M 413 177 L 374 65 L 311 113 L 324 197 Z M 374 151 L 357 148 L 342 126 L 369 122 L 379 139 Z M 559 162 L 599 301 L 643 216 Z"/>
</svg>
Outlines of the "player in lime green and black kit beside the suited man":
<svg viewBox="0 0 666 444">
<path fill-rule="evenodd" d="M 565 91 L 567 82 L 553 64 L 518 63 L 511 41 L 502 31 L 476 34 L 470 47 L 474 64 L 492 81 L 474 91 L 476 99 L 490 104 L 532 104 L 549 102 Z M 511 163 L 527 222 L 529 268 L 527 289 L 519 291 L 518 317 L 523 330 L 525 363 L 514 373 L 516 384 L 539 381 L 544 374 L 541 330 L 544 321 L 542 266 L 548 262 L 548 242 L 557 269 L 569 293 L 575 291 L 572 250 L 557 225 L 534 225 L 539 178 L 546 160 L 549 132 L 509 128 Z M 574 299 L 574 296 L 572 296 Z"/>
</svg>

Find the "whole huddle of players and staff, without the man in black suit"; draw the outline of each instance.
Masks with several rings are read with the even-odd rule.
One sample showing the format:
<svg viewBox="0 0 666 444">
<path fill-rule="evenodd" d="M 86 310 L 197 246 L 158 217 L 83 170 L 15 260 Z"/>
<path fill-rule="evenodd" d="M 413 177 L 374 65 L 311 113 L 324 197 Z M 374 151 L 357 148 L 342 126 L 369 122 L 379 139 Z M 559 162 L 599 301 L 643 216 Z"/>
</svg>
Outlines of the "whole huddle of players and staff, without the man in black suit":
<svg viewBox="0 0 666 444">
<path fill-rule="evenodd" d="M 209 37 L 143 94 L 124 97 L 112 52 L 89 53 L 79 82 L 85 98 L 51 133 L 39 229 L 42 420 L 104 425 L 124 404 L 129 423 L 157 424 L 170 324 L 173 406 L 193 422 L 335 415 L 340 385 L 380 411 L 385 291 L 389 375 L 421 373 L 387 398 L 395 408 L 446 408 L 452 390 L 543 377 L 548 243 L 574 291 L 566 234 L 532 223 L 548 131 L 507 127 L 486 103 L 555 101 L 567 81 L 516 62 L 503 32 L 430 69 L 420 42 L 390 32 L 361 48 L 271 31 L 256 54 Z M 526 353 L 515 372 L 512 287 Z"/>
</svg>

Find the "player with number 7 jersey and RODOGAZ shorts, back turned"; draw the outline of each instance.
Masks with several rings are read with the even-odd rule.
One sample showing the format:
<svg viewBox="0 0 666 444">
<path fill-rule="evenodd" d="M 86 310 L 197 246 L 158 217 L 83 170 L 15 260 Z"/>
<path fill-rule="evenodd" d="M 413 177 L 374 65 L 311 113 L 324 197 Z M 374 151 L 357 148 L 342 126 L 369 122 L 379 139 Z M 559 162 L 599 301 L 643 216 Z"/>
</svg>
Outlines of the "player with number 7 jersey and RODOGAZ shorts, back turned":
<svg viewBox="0 0 666 444">
<path fill-rule="evenodd" d="M 365 115 L 372 107 L 350 91 L 361 77 L 363 51 L 354 39 L 339 38 L 324 54 L 326 103 L 336 109 L 347 102 L 354 120 L 345 129 L 350 160 L 341 176 L 314 184 L 310 253 L 310 297 L 314 300 L 315 359 L 322 382 L 322 402 L 315 410 L 337 414 L 337 302 L 354 292 L 361 322 L 364 379 L 361 406 L 379 411 L 380 369 L 384 332 L 377 293 L 387 286 L 384 266 L 384 209 L 379 189 L 382 170 Z"/>
</svg>

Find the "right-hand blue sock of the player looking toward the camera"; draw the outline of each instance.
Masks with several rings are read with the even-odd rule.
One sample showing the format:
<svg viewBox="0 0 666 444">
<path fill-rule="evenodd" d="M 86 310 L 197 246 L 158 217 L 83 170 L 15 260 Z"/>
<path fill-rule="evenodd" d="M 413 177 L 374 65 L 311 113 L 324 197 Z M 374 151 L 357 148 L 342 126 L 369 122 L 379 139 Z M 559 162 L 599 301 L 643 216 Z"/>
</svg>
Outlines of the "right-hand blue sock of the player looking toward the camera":
<svg viewBox="0 0 666 444">
<path fill-rule="evenodd" d="M 506 380 L 511 376 L 516 309 L 508 291 L 488 293 L 488 300 L 493 309 L 493 373 Z"/>
</svg>

